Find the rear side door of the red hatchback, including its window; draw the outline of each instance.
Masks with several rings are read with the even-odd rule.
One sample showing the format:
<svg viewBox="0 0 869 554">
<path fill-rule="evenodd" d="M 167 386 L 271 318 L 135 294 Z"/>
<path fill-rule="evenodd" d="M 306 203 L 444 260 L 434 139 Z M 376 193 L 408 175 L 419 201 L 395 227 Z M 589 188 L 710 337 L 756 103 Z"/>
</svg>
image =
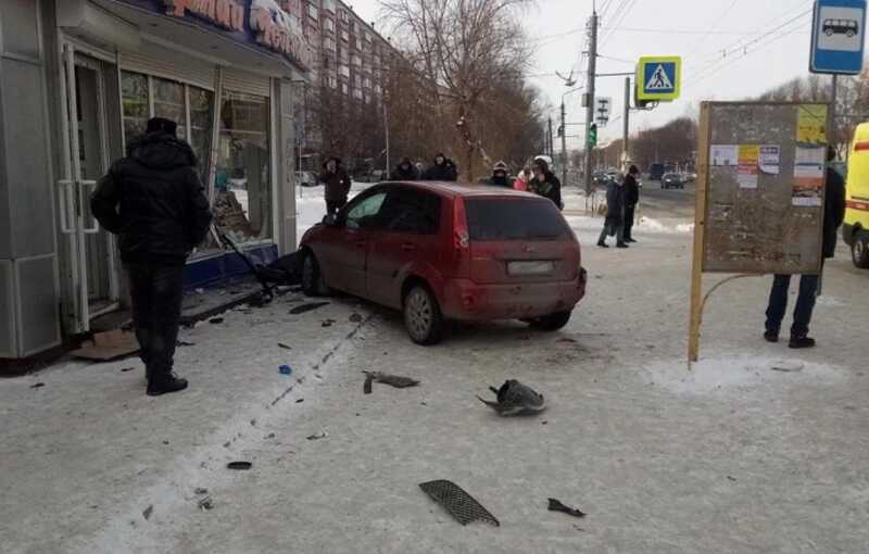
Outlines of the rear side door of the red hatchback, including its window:
<svg viewBox="0 0 869 554">
<path fill-rule="evenodd" d="M 401 286 L 408 267 L 430 255 L 431 243 L 438 240 L 440 205 L 440 197 L 432 192 L 413 187 L 390 190 L 381 211 L 383 227 L 371 235 L 368 250 L 369 299 L 401 307 Z"/>
</svg>

